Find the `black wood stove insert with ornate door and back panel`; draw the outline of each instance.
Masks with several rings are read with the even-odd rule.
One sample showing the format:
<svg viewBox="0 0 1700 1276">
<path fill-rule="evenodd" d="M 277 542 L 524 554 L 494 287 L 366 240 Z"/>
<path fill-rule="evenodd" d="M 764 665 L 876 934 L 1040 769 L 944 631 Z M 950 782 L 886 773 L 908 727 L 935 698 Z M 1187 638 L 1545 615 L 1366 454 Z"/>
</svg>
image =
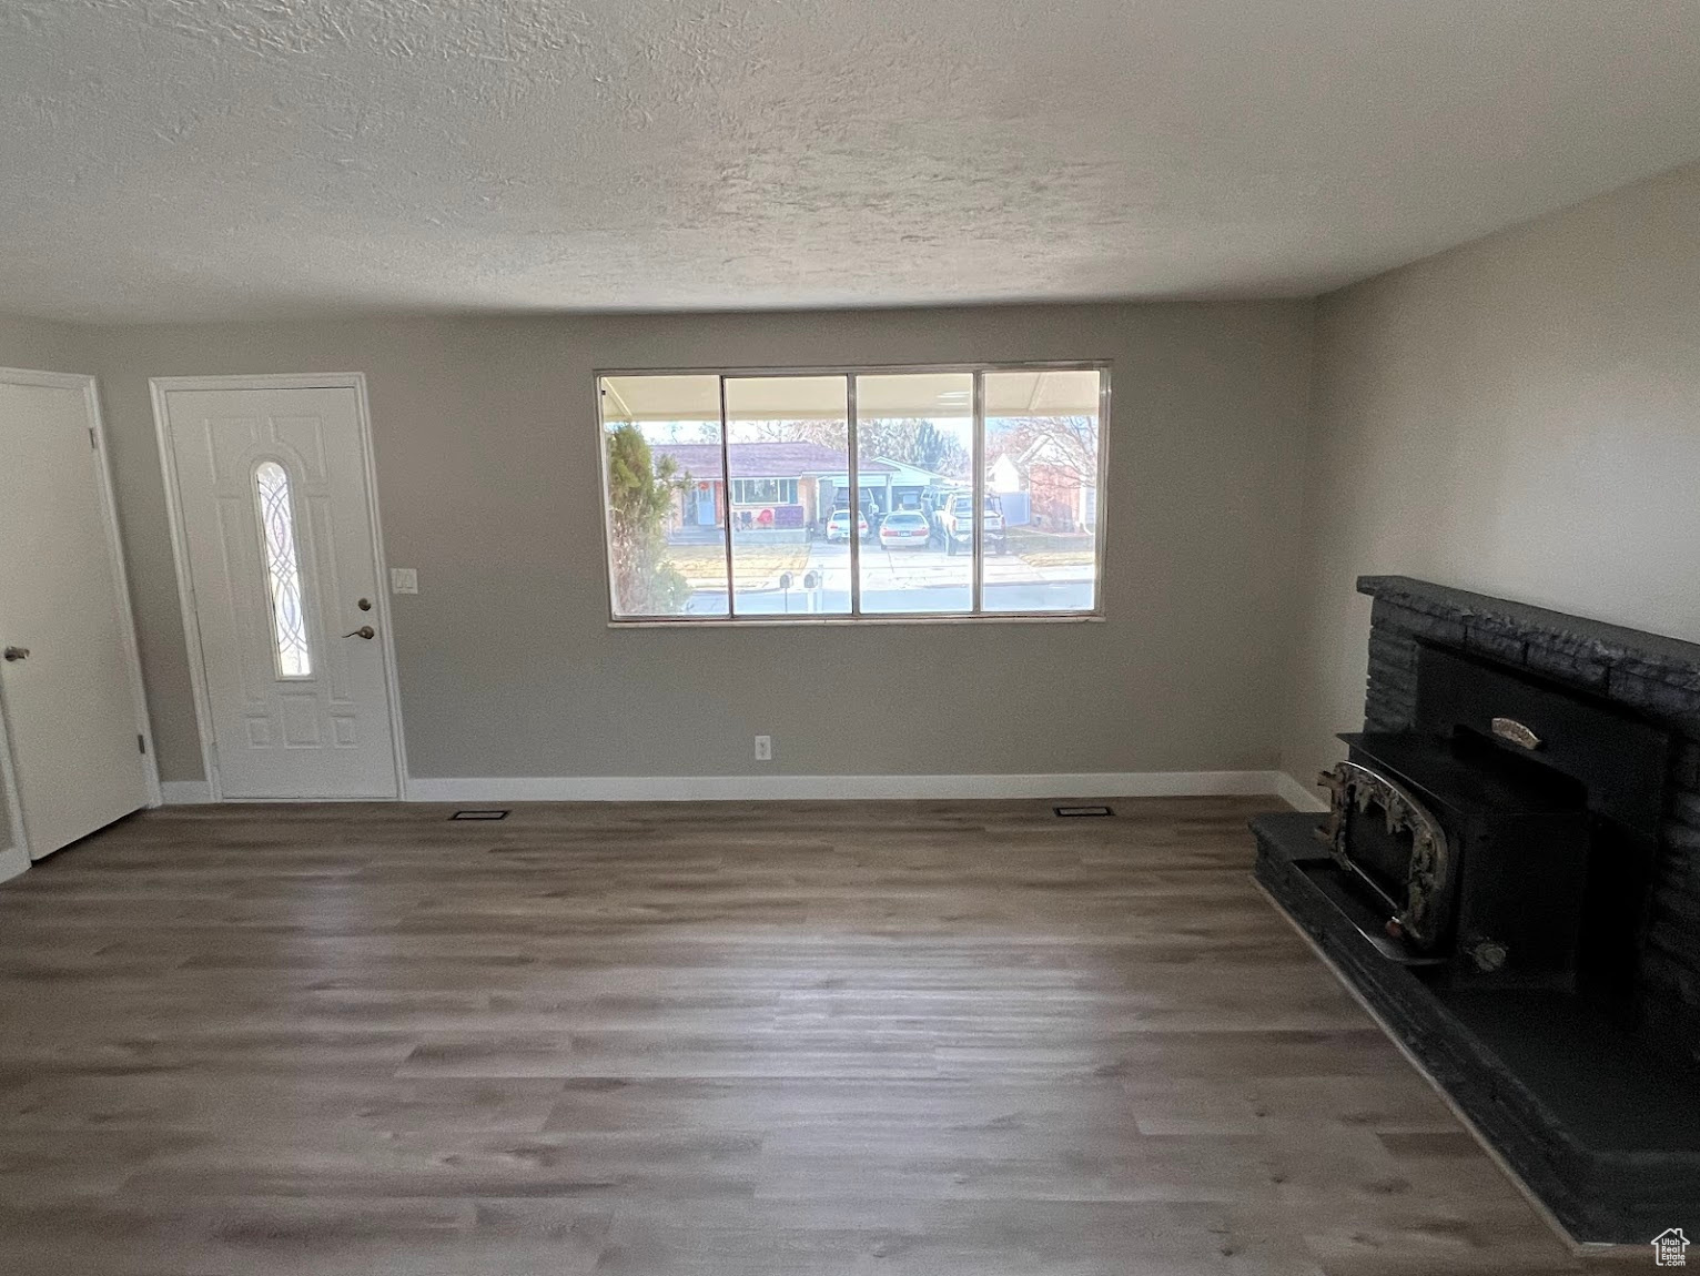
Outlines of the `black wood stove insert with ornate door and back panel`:
<svg viewBox="0 0 1700 1276">
<path fill-rule="evenodd" d="M 1413 729 L 1341 736 L 1321 776 L 1329 892 L 1392 960 L 1622 1006 L 1669 736 L 1460 652 L 1418 668 Z"/>
</svg>

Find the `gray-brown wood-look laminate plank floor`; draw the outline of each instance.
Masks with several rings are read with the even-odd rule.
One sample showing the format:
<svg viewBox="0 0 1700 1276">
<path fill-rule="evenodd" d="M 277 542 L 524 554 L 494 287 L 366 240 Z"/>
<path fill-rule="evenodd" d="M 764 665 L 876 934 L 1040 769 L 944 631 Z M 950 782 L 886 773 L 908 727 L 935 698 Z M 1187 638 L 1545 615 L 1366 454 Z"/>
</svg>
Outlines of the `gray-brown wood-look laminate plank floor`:
<svg viewBox="0 0 1700 1276">
<path fill-rule="evenodd" d="M 1266 805 L 133 817 L 0 887 L 0 1273 L 1579 1269 Z"/>
</svg>

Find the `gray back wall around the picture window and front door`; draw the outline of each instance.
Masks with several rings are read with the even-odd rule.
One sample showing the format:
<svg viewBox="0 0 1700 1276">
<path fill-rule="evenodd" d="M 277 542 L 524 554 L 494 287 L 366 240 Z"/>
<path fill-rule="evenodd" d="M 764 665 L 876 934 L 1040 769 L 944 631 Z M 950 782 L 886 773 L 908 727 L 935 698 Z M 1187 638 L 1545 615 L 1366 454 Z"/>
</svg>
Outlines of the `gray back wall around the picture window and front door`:
<svg viewBox="0 0 1700 1276">
<path fill-rule="evenodd" d="M 148 377 L 362 370 L 416 776 L 1263 770 L 1309 302 L 85 330 L 167 780 L 202 773 Z M 1108 359 L 1105 624 L 610 630 L 592 369 Z M 775 737 L 756 768 L 750 737 Z"/>
</svg>

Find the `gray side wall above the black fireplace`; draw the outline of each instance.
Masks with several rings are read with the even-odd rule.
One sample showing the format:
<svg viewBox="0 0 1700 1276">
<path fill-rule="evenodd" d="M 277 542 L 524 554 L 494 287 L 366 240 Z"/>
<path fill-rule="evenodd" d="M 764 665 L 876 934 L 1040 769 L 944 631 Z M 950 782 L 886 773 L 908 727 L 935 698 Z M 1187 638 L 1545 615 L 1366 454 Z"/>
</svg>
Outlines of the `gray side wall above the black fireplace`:
<svg viewBox="0 0 1700 1276">
<path fill-rule="evenodd" d="M 1284 770 L 1363 719 L 1401 573 L 1700 639 L 1700 165 L 1324 297 Z"/>
</svg>

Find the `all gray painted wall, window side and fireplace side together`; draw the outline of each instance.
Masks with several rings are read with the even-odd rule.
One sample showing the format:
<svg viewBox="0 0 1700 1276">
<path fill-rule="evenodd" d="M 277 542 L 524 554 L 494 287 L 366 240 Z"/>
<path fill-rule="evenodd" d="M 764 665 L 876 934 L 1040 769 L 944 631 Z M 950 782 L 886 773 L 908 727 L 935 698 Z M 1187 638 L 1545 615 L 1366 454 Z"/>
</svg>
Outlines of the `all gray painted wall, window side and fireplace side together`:
<svg viewBox="0 0 1700 1276">
<path fill-rule="evenodd" d="M 592 369 L 1025 359 L 1114 362 L 1107 624 L 604 624 Z M 1700 637 L 1700 165 L 1314 308 L 0 319 L 0 362 L 100 375 L 167 780 L 201 754 L 150 375 L 367 372 L 389 557 L 420 569 L 393 600 L 418 776 L 1307 780 L 1362 715 L 1360 573 Z"/>
</svg>

